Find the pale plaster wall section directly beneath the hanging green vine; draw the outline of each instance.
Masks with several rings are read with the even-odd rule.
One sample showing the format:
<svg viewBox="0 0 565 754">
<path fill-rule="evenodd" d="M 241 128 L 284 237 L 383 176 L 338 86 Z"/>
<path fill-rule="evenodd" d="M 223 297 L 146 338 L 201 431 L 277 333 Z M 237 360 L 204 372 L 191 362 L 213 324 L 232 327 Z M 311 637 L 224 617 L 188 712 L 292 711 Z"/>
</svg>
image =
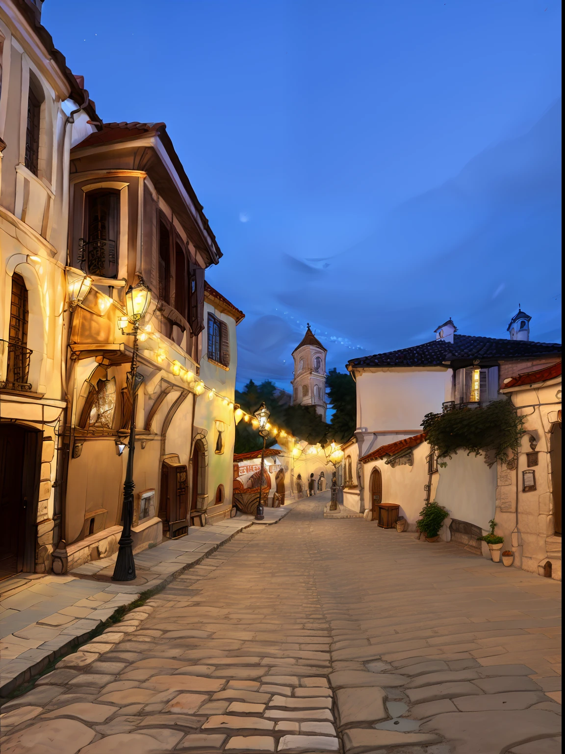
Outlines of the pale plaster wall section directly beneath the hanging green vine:
<svg viewBox="0 0 565 754">
<path fill-rule="evenodd" d="M 451 518 L 489 528 L 496 505 L 496 464 L 489 468 L 484 455 L 467 455 L 460 450 L 452 458 L 442 459 L 438 467 L 435 500 L 449 511 Z"/>
</svg>

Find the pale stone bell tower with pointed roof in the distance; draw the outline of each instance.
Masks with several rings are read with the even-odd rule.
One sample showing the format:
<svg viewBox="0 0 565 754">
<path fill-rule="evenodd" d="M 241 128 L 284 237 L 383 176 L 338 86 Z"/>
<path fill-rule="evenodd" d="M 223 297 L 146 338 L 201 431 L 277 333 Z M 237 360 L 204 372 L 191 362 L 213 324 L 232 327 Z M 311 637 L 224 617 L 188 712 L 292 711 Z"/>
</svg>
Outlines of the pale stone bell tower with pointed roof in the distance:
<svg viewBox="0 0 565 754">
<path fill-rule="evenodd" d="M 295 379 L 292 380 L 292 405 L 316 406 L 316 412 L 325 421 L 325 354 L 328 351 L 319 342 L 307 324 L 306 335 L 292 351 L 295 360 Z"/>
</svg>

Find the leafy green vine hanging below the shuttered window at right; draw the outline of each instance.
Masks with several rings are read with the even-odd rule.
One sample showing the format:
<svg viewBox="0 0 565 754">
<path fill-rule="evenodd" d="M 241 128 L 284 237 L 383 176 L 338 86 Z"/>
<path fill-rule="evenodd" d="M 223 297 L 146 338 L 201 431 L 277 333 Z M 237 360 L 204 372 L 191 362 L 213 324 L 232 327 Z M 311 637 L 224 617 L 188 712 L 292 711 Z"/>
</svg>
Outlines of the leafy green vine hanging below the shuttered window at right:
<svg viewBox="0 0 565 754">
<path fill-rule="evenodd" d="M 509 461 L 509 450 L 513 457 L 518 455 L 523 425 L 524 418 L 518 416 L 512 401 L 507 398 L 494 400 L 484 408 L 426 414 L 421 424 L 438 459 L 451 458 L 463 449 L 467 455 L 488 452 L 492 463 Z"/>
</svg>

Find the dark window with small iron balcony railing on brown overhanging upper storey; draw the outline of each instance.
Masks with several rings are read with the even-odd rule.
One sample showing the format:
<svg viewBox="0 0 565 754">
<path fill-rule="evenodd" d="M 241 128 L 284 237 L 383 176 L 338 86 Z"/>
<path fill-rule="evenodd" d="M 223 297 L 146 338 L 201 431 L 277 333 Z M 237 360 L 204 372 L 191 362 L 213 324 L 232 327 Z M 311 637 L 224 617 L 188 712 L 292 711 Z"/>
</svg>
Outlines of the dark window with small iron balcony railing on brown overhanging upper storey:
<svg viewBox="0 0 565 754">
<path fill-rule="evenodd" d="M 118 192 L 87 195 L 87 244 L 82 259 L 91 275 L 118 277 L 118 209 Z"/>
</svg>

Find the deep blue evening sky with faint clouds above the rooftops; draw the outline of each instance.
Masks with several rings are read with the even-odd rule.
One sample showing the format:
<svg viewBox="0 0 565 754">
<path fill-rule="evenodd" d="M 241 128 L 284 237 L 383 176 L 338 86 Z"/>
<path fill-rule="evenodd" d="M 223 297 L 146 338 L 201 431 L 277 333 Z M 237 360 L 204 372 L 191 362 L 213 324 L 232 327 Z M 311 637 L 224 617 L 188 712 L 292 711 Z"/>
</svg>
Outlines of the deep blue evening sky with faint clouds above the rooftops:
<svg viewBox="0 0 565 754">
<path fill-rule="evenodd" d="M 47 0 L 105 121 L 165 121 L 246 312 L 238 382 L 459 332 L 560 341 L 554 0 Z"/>
</svg>

